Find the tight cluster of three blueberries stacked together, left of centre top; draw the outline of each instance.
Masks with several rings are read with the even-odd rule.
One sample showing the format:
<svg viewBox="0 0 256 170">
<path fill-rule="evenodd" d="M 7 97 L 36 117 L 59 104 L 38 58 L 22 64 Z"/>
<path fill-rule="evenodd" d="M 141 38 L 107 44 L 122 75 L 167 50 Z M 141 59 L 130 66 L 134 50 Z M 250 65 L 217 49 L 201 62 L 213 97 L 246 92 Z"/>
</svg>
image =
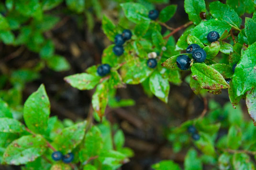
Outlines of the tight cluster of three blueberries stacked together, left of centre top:
<svg viewBox="0 0 256 170">
<path fill-rule="evenodd" d="M 115 46 L 113 47 L 113 53 L 117 56 L 123 54 L 123 44 L 125 41 L 132 38 L 132 32 L 130 30 L 123 30 L 122 34 L 117 34 L 115 36 Z"/>
</svg>

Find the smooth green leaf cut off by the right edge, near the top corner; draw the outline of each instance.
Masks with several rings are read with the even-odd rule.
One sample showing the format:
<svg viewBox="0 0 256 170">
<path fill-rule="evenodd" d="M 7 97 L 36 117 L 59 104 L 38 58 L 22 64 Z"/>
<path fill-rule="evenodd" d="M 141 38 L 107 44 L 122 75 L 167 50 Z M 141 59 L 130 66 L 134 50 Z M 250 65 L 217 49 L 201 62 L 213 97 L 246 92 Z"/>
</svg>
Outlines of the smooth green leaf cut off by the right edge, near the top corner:
<svg viewBox="0 0 256 170">
<path fill-rule="evenodd" d="M 249 45 L 256 42 L 256 35 L 253 31 L 256 27 L 256 21 L 251 18 L 245 18 L 245 34 L 248 39 Z"/>
</svg>

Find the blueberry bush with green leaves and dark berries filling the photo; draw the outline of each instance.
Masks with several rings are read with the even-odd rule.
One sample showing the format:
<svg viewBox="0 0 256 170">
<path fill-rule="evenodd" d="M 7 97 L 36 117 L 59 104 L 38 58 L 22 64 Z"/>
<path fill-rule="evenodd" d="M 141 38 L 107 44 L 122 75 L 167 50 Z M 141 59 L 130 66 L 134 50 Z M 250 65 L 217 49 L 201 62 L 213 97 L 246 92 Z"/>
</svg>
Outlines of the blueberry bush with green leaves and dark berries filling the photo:
<svg viewBox="0 0 256 170">
<path fill-rule="evenodd" d="M 256 170 L 256 1 L 184 0 L 189 21 L 175 28 L 168 23 L 179 9 L 168 2 L 0 2 L 0 40 L 15 49 L 1 59 L 1 164 L 22 170 L 122 169 L 134 151 L 126 147 L 122 128 L 106 115 L 110 108 L 134 106 L 135 101 L 118 99 L 118 90 L 141 85 L 148 98 L 156 96 L 168 105 L 169 100 L 182 100 L 170 97 L 170 86 L 186 84 L 202 99 L 203 111 L 165 127 L 161 136 L 181 160 L 169 156 L 151 162 L 150 169 Z M 117 18 L 111 17 L 113 11 Z M 50 117 L 44 84 L 27 98 L 22 96 L 26 85 L 38 81 L 45 69 L 71 69 L 67 58 L 57 53 L 61 45 L 51 33 L 67 20 L 63 13 L 78 27 L 85 20 L 90 34 L 100 21 L 112 42 L 103 50 L 101 64 L 63 77 L 80 91 L 90 90 L 85 120 Z M 5 63 L 13 58 L 26 60 L 24 51 L 38 59 L 5 71 Z M 212 97 L 222 93 L 230 100 L 224 105 Z"/>
</svg>

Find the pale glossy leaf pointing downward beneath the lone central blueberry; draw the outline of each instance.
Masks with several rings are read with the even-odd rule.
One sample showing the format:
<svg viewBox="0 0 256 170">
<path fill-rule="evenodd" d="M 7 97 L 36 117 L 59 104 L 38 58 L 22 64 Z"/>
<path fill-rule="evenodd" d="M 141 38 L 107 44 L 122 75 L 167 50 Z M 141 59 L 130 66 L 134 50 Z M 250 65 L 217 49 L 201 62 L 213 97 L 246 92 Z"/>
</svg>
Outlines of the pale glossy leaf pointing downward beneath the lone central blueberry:
<svg viewBox="0 0 256 170">
<path fill-rule="evenodd" d="M 159 72 L 154 72 L 149 78 L 149 87 L 156 97 L 167 103 L 170 91 L 167 78 L 163 78 Z"/>
</svg>

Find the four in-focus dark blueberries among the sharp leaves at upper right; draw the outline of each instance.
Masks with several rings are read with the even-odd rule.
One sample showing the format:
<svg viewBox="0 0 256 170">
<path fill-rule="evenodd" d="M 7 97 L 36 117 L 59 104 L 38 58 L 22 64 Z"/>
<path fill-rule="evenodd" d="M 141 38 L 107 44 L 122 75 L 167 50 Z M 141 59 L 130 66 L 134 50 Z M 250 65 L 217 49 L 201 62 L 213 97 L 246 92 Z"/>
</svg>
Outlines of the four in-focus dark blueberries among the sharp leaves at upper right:
<svg viewBox="0 0 256 170">
<path fill-rule="evenodd" d="M 209 42 L 215 42 L 220 38 L 218 32 L 212 31 L 207 35 L 207 40 Z M 187 53 L 191 53 L 195 62 L 202 63 L 206 59 L 205 51 L 200 48 L 198 44 L 190 44 L 186 50 Z M 188 55 L 180 55 L 177 57 L 177 66 L 181 70 L 188 70 L 191 60 Z"/>
</svg>

